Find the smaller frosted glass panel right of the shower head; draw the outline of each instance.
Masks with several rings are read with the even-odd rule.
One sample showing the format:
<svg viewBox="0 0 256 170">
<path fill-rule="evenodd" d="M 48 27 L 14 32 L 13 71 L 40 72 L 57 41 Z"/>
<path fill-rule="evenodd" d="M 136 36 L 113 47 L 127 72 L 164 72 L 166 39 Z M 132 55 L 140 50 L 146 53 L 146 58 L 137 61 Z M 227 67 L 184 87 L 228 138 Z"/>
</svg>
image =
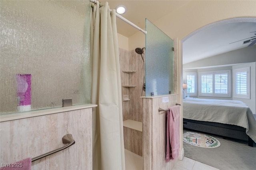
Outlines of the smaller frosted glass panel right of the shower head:
<svg viewBox="0 0 256 170">
<path fill-rule="evenodd" d="M 174 41 L 146 19 L 146 97 L 167 95 L 174 88 Z"/>
</svg>

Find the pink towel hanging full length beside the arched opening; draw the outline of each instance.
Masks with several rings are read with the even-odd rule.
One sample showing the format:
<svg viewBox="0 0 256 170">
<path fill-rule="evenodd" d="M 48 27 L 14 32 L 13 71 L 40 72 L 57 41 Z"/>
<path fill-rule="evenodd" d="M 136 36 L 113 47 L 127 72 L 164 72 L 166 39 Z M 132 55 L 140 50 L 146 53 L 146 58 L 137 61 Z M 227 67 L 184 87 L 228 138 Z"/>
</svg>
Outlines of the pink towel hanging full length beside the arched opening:
<svg viewBox="0 0 256 170">
<path fill-rule="evenodd" d="M 166 128 L 166 162 L 178 157 L 180 147 L 180 106 L 176 105 L 169 109 Z"/>
</svg>

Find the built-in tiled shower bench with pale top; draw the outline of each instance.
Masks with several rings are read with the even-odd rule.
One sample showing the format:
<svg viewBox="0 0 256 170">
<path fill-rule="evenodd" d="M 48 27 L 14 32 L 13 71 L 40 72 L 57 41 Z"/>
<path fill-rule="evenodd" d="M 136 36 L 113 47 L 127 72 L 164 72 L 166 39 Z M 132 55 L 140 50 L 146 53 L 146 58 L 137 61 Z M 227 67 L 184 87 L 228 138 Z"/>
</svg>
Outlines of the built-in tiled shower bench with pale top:
<svg viewBox="0 0 256 170">
<path fill-rule="evenodd" d="M 125 120 L 124 127 L 124 148 L 142 156 L 142 122 Z"/>
</svg>

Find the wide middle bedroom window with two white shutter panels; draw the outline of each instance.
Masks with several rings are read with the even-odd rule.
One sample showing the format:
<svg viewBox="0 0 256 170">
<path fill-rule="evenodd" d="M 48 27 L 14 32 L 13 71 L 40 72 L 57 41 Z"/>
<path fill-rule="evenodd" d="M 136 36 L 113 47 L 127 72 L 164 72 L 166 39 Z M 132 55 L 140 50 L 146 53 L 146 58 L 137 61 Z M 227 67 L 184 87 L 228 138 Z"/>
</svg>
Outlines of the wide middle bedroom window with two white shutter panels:
<svg viewBox="0 0 256 170">
<path fill-rule="evenodd" d="M 230 70 L 200 72 L 200 96 L 231 97 Z"/>
</svg>

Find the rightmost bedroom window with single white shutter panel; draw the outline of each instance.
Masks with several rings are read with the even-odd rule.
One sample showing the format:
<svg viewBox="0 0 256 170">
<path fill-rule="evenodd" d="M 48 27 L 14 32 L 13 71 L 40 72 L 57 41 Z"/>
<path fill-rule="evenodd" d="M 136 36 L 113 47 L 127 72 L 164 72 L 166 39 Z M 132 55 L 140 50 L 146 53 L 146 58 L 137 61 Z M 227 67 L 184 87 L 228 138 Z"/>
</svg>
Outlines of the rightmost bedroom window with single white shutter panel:
<svg viewBox="0 0 256 170">
<path fill-rule="evenodd" d="M 234 69 L 234 97 L 250 99 L 250 67 Z"/>
</svg>

